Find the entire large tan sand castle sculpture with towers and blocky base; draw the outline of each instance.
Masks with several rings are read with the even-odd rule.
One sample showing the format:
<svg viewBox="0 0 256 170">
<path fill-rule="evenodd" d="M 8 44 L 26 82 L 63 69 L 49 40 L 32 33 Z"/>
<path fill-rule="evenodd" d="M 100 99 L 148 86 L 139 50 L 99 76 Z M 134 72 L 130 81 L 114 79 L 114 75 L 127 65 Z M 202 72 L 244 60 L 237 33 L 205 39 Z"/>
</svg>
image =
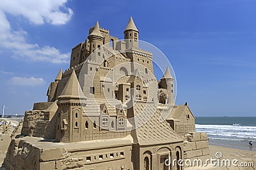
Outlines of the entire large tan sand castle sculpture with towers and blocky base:
<svg viewBox="0 0 256 170">
<path fill-rule="evenodd" d="M 49 85 L 48 101 L 26 111 L 6 169 L 184 169 L 164 160 L 207 159 L 207 134 L 195 132 L 188 103 L 175 105 L 169 68 L 157 81 L 152 53 L 138 40 L 132 18 L 122 41 L 99 22 L 90 28 Z"/>
</svg>

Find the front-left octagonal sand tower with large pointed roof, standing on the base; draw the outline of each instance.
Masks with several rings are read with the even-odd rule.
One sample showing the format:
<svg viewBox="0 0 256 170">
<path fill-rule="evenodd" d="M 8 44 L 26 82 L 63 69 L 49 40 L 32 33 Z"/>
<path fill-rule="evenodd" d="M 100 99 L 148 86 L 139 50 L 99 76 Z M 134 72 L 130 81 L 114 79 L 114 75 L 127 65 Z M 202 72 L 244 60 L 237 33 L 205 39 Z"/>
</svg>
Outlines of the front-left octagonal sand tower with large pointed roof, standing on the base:
<svg viewBox="0 0 256 170">
<path fill-rule="evenodd" d="M 82 92 L 75 71 L 68 79 L 65 89 L 58 97 L 58 111 L 56 121 L 56 141 L 81 141 L 83 108 L 80 96 Z"/>
</svg>

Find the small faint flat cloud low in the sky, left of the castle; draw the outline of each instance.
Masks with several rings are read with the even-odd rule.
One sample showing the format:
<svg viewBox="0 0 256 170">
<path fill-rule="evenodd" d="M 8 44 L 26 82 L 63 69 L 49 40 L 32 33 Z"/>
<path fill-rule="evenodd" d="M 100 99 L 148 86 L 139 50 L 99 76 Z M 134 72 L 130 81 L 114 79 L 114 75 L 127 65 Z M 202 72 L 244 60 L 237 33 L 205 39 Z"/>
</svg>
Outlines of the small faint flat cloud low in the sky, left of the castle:
<svg viewBox="0 0 256 170">
<path fill-rule="evenodd" d="M 26 77 L 13 77 L 10 80 L 10 85 L 22 85 L 22 86 L 40 86 L 44 85 L 46 81 L 43 78 L 26 78 Z"/>
</svg>

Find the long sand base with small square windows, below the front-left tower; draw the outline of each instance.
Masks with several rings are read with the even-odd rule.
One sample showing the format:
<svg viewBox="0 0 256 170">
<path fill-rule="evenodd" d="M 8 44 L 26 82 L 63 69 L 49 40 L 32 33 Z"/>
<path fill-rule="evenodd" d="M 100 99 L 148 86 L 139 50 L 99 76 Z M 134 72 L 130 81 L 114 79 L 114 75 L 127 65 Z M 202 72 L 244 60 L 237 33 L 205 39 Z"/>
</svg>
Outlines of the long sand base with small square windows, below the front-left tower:
<svg viewBox="0 0 256 170">
<path fill-rule="evenodd" d="M 95 150 L 97 148 L 97 150 Z M 111 148 L 111 149 L 109 149 Z M 132 167 L 131 136 L 126 138 L 57 143 L 44 138 L 13 139 L 4 159 L 6 169 L 113 169 Z M 111 158 L 113 155 L 113 158 Z M 114 163 L 115 162 L 115 163 Z"/>
</svg>

